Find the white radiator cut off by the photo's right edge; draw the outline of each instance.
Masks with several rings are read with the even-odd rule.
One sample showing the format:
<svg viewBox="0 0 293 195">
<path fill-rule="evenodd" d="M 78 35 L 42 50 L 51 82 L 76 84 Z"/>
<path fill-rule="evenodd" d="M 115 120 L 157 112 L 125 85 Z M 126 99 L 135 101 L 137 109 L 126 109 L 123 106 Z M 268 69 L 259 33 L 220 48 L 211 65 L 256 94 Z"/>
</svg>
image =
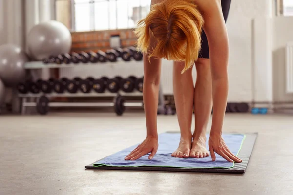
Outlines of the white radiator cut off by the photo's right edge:
<svg viewBox="0 0 293 195">
<path fill-rule="evenodd" d="M 293 93 L 293 42 L 286 45 L 286 93 Z"/>
</svg>

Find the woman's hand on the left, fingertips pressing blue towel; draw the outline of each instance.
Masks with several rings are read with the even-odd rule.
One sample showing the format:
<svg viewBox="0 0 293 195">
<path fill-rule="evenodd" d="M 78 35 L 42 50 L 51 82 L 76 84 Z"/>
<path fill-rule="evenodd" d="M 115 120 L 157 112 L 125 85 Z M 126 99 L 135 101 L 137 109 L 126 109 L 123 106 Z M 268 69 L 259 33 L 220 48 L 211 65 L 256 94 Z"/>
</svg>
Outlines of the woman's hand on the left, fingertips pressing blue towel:
<svg viewBox="0 0 293 195">
<path fill-rule="evenodd" d="M 152 159 L 158 150 L 158 138 L 146 137 L 146 139 L 138 145 L 129 155 L 125 157 L 125 160 L 136 160 L 148 153 L 148 159 Z"/>
</svg>

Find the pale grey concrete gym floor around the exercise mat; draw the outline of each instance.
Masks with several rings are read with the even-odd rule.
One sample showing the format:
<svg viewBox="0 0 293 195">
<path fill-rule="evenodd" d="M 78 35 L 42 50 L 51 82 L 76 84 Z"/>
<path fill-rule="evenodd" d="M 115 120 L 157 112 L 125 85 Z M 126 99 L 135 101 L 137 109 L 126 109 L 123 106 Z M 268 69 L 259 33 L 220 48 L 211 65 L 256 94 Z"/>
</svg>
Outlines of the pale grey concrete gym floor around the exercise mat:
<svg viewBox="0 0 293 195">
<path fill-rule="evenodd" d="M 158 127 L 179 130 L 175 116 Z M 143 114 L 0 116 L 0 195 L 292 195 L 293 116 L 226 115 L 224 131 L 259 133 L 243 175 L 92 171 L 144 139 Z"/>
</svg>

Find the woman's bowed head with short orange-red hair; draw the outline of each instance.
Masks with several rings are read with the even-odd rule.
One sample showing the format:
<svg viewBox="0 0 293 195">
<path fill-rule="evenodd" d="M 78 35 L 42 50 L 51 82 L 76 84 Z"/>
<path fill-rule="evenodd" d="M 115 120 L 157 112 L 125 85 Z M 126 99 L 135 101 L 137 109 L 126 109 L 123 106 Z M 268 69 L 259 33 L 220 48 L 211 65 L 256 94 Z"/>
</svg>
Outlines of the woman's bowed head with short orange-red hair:
<svg viewBox="0 0 293 195">
<path fill-rule="evenodd" d="M 184 72 L 198 58 L 203 23 L 192 0 L 164 0 L 152 5 L 146 18 L 138 22 L 137 46 L 149 57 L 185 61 Z M 150 48 L 151 33 L 156 39 L 154 48 Z"/>
</svg>

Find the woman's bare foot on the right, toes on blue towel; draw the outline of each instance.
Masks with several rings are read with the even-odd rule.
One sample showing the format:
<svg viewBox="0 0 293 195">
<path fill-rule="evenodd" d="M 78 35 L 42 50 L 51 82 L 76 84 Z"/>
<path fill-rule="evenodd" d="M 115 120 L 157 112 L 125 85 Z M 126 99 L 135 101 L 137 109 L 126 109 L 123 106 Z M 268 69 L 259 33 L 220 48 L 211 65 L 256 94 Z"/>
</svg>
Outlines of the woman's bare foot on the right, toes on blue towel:
<svg viewBox="0 0 293 195">
<path fill-rule="evenodd" d="M 190 157 L 204 158 L 209 156 L 209 151 L 206 148 L 206 140 L 207 140 L 207 137 L 205 134 L 201 136 L 193 136 Z"/>
</svg>

